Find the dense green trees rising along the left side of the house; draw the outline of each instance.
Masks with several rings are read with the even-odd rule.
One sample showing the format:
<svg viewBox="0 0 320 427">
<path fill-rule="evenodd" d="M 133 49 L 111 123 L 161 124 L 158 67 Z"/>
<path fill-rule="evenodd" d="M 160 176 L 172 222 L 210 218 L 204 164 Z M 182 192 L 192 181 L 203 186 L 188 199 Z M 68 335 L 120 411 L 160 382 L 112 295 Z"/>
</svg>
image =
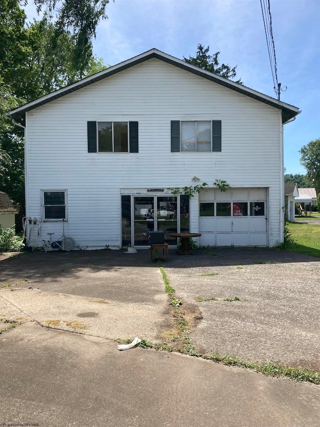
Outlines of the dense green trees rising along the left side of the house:
<svg viewBox="0 0 320 427">
<path fill-rule="evenodd" d="M 20 216 L 24 214 L 23 129 L 5 113 L 105 68 L 92 56 L 90 42 L 86 50 L 90 54 L 78 56 L 74 29 L 63 29 L 48 16 L 25 22 L 18 0 L 0 0 L 0 190 L 20 207 Z"/>
</svg>

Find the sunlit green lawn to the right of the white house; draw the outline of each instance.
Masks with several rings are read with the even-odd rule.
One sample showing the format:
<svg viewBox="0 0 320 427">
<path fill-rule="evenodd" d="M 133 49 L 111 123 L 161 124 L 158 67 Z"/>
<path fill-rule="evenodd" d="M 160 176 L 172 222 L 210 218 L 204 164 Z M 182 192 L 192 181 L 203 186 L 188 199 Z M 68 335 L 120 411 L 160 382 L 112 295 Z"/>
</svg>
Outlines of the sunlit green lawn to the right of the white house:
<svg viewBox="0 0 320 427">
<path fill-rule="evenodd" d="M 286 243 L 285 250 L 320 258 L 320 224 L 290 222 L 287 228 L 295 243 Z"/>
</svg>

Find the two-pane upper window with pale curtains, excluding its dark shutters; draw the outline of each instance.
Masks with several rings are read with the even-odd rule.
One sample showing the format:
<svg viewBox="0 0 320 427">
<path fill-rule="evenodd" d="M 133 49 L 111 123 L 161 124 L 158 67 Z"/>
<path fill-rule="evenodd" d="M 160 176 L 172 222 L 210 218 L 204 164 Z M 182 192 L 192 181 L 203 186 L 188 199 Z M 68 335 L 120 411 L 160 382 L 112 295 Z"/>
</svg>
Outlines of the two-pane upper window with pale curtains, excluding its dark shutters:
<svg viewBox="0 0 320 427">
<path fill-rule="evenodd" d="M 212 122 L 180 122 L 181 151 L 212 151 Z"/>
</svg>

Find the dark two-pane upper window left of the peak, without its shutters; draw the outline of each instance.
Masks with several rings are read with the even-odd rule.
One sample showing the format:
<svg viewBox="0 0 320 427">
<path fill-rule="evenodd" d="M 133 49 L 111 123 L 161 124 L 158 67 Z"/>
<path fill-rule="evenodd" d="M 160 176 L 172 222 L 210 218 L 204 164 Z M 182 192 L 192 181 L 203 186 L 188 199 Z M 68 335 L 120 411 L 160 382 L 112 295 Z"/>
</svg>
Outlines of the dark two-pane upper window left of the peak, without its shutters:
<svg viewBox="0 0 320 427">
<path fill-rule="evenodd" d="M 128 153 L 128 122 L 97 122 L 99 153 Z"/>
</svg>

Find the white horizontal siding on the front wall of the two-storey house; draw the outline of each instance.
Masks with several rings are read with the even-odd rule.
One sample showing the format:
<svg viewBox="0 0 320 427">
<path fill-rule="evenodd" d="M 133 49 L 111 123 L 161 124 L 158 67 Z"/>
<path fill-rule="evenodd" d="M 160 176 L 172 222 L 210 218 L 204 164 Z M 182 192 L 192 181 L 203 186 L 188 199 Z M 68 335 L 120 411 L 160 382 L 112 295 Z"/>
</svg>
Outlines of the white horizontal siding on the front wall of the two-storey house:
<svg viewBox="0 0 320 427">
<path fill-rule="evenodd" d="M 220 120 L 222 151 L 171 153 L 172 120 Z M 88 153 L 88 121 L 138 122 L 139 152 Z M 194 185 L 194 176 L 211 187 L 222 179 L 231 187 L 268 188 L 269 244 L 281 240 L 281 117 L 273 107 L 151 59 L 28 112 L 27 124 L 26 214 L 41 217 L 40 188 L 66 188 L 65 233 L 80 247 L 120 245 L 121 188 L 167 191 Z M 192 232 L 198 210 L 194 197 Z M 52 228 L 43 224 L 32 244 L 41 245 Z"/>
</svg>

